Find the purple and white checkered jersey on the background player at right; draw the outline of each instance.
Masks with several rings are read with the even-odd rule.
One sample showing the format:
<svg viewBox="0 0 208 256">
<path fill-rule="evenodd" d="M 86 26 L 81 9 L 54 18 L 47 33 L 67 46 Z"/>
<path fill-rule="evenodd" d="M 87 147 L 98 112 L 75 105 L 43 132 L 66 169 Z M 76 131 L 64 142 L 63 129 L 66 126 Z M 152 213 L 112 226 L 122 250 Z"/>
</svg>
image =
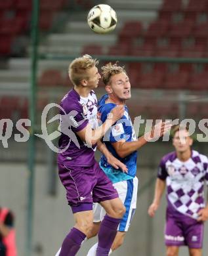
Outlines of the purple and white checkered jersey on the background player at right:
<svg viewBox="0 0 208 256">
<path fill-rule="evenodd" d="M 166 180 L 167 211 L 173 216 L 178 212 L 198 218 L 199 209 L 205 207 L 203 186 L 208 184 L 208 159 L 192 150 L 187 161 L 180 161 L 176 152 L 164 156 L 160 162 L 157 177 Z"/>
</svg>

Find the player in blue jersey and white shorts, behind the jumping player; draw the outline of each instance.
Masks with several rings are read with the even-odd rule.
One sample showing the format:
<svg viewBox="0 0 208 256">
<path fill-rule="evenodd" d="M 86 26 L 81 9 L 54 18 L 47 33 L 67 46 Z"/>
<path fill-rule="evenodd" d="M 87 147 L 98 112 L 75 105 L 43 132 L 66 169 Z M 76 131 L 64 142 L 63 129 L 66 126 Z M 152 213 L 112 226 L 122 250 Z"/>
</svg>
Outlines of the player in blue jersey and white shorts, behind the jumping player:
<svg viewBox="0 0 208 256">
<path fill-rule="evenodd" d="M 108 118 L 110 111 L 117 105 L 125 107 L 125 113 L 121 119 L 115 123 L 112 128 L 107 131 L 103 138 L 104 144 L 108 150 L 121 162 L 127 165 L 128 171 L 125 173 L 121 170 L 114 169 L 106 161 L 106 157 L 102 155 L 100 167 L 113 182 L 119 198 L 126 207 L 125 215 L 117 228 L 117 235 L 110 253 L 123 244 L 124 236 L 129 228 L 136 209 L 136 198 L 138 179 L 136 175 L 136 157 L 137 150 L 146 142 L 161 137 L 171 128 L 171 123 L 158 123 L 149 133 L 137 138 L 133 127 L 128 108 L 125 104 L 126 100 L 131 98 L 131 83 L 124 67 L 116 64 L 108 63 L 102 67 L 102 79 L 106 85 L 107 94 L 100 98 L 98 102 L 98 112 L 100 120 L 104 122 Z M 106 214 L 104 209 L 98 203 L 94 204 L 94 226 L 91 234 L 87 236 L 91 238 L 98 233 L 100 222 Z M 93 245 L 87 256 L 96 255 L 97 244 Z M 109 254 L 110 254 L 109 253 Z"/>
</svg>

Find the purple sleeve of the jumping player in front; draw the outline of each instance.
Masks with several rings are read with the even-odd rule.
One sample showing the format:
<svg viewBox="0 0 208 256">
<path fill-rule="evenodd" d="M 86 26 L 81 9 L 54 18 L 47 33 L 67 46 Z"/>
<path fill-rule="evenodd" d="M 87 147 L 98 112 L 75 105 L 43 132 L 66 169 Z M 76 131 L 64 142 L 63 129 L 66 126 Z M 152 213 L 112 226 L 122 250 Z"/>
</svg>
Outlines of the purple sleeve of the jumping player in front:
<svg viewBox="0 0 208 256">
<path fill-rule="evenodd" d="M 62 113 L 62 125 L 70 127 L 73 132 L 77 133 L 84 129 L 89 120 L 83 113 L 83 108 L 79 102 L 71 102 L 62 106 L 66 113 Z"/>
</svg>

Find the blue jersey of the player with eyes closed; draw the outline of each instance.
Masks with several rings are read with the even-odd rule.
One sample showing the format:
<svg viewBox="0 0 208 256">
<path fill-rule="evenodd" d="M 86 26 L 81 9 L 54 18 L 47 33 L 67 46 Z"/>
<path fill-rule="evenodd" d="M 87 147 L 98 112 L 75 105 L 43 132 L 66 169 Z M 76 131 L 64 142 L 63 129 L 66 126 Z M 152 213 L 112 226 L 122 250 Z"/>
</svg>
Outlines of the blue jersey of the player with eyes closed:
<svg viewBox="0 0 208 256">
<path fill-rule="evenodd" d="M 104 95 L 98 102 L 98 112 L 100 114 L 102 123 L 106 121 L 108 113 L 110 113 L 110 111 L 116 106 L 114 103 L 106 104 L 105 101 L 107 98 L 108 95 Z M 109 129 L 103 138 L 103 142 L 106 144 L 108 150 L 115 156 L 115 158 L 127 165 L 128 168 L 128 174 L 123 173 L 121 170 L 114 169 L 111 165 L 108 164 L 106 157 L 102 155 L 100 160 L 100 167 L 104 170 L 106 175 L 108 175 L 113 183 L 133 179 L 133 177 L 136 175 L 137 152 L 135 151 L 125 158 L 120 158 L 112 146 L 112 142 L 117 142 L 121 139 L 125 139 L 127 142 L 136 140 L 135 129 L 131 122 L 127 106 L 125 106 L 125 113 L 123 117 L 119 119 L 119 121 L 117 121 L 111 129 Z"/>
</svg>

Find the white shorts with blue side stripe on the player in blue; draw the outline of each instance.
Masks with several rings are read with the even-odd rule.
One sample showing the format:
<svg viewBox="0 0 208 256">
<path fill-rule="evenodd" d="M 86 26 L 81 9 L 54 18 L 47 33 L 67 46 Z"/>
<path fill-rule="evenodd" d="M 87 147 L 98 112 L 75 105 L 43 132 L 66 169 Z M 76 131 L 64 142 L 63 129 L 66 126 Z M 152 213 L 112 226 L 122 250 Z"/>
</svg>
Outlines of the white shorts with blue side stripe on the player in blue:
<svg viewBox="0 0 208 256">
<path fill-rule="evenodd" d="M 131 220 L 133 219 L 133 216 L 135 214 L 138 179 L 137 177 L 135 177 L 131 180 L 116 182 L 113 185 L 119 194 L 119 198 L 126 207 L 125 215 L 123 215 L 123 219 L 121 219 L 121 223 L 119 224 L 117 230 L 121 232 L 127 232 Z M 106 215 L 106 211 L 100 205 L 100 203 L 93 203 L 93 213 L 94 223 L 102 221 L 102 219 Z"/>
</svg>

